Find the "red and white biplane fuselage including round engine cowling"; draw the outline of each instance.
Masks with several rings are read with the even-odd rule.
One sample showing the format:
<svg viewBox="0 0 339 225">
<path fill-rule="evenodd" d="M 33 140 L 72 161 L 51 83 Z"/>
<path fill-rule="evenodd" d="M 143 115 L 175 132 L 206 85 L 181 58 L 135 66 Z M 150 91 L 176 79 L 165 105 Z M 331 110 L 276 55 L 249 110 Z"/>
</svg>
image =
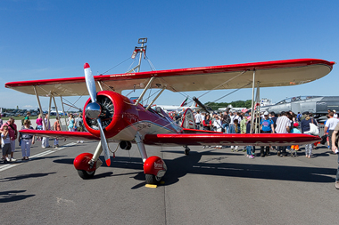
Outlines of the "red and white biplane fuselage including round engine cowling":
<svg viewBox="0 0 339 225">
<path fill-rule="evenodd" d="M 129 100 L 117 92 L 98 92 L 97 98 L 99 100 L 104 98 L 102 100 L 102 120 L 104 133 L 108 139 L 132 141 L 136 132 L 143 136 L 157 133 L 182 133 L 183 129 L 162 110 L 158 112 L 152 108 L 145 110 L 142 105 L 136 106 L 133 100 Z M 90 102 L 91 100 L 88 99 L 84 110 Z M 107 108 L 110 108 L 111 111 Z M 95 125 L 91 125 L 91 120 L 85 114 L 83 120 L 87 131 L 100 137 L 100 131 L 96 129 Z"/>
</svg>

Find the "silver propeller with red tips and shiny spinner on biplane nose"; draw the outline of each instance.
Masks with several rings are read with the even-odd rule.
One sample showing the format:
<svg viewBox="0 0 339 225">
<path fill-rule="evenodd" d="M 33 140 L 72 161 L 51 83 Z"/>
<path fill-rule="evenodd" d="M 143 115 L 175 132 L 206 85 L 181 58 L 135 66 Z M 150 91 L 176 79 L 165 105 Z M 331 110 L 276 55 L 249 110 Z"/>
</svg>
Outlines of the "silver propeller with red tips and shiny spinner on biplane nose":
<svg viewBox="0 0 339 225">
<path fill-rule="evenodd" d="M 87 107 L 85 108 L 85 115 L 86 117 L 89 117 L 91 119 L 96 119 L 97 121 L 99 130 L 100 130 L 100 139 L 101 139 L 101 145 L 103 148 L 104 160 L 106 161 L 106 165 L 110 166 L 111 165 L 110 152 L 108 149 L 106 137 L 104 136 L 104 133 L 103 133 L 102 121 L 100 119 L 102 108 L 100 104 L 96 102 L 95 78 L 92 75 L 92 70 L 89 67 L 88 63 L 85 63 L 84 65 L 84 72 L 85 72 L 87 90 L 92 100 L 92 102 L 87 104 Z"/>
</svg>

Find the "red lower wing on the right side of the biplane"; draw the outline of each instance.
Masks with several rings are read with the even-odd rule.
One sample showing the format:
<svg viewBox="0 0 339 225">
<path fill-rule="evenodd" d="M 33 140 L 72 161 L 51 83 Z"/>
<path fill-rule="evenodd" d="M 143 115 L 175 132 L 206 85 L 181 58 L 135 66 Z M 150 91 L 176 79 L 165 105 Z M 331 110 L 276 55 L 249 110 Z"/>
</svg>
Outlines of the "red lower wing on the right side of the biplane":
<svg viewBox="0 0 339 225">
<path fill-rule="evenodd" d="M 321 141 L 318 136 L 300 133 L 174 133 L 145 135 L 145 144 L 150 145 L 287 146 L 292 144 L 310 144 L 317 141 Z"/>
</svg>

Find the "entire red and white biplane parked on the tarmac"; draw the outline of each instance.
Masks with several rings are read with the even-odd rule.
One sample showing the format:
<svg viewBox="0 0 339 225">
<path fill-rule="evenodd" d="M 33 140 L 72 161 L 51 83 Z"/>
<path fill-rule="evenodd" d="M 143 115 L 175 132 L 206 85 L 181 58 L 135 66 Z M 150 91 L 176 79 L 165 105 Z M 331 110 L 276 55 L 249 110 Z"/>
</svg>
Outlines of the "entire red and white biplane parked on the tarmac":
<svg viewBox="0 0 339 225">
<path fill-rule="evenodd" d="M 181 68 L 92 76 L 85 63 L 85 76 L 10 82 L 5 87 L 37 96 L 49 96 L 50 106 L 54 97 L 80 96 L 88 92 L 90 98 L 84 106 L 83 121 L 87 132 L 25 130 L 51 138 L 97 140 L 94 154 L 82 153 L 74 159 L 74 166 L 83 179 L 94 176 L 102 165 L 102 151 L 106 165 L 111 165 L 108 141 L 120 142 L 121 149 L 137 145 L 144 162 L 145 180 L 157 183 L 167 171 L 161 157 L 148 157 L 145 145 L 184 146 L 188 155 L 190 145 L 285 146 L 306 144 L 319 138 L 308 134 L 227 134 L 195 129 L 192 110 L 186 109 L 182 125 L 177 125 L 161 108 L 140 104 L 149 88 L 172 92 L 236 89 L 246 84 L 260 87 L 305 84 L 326 76 L 335 62 L 316 59 L 276 60 L 203 68 Z M 121 91 L 144 89 L 138 100 L 130 100 Z M 96 90 L 100 90 L 97 92 Z M 149 104 L 159 97 L 161 92 Z M 61 98 L 62 99 L 62 98 Z M 55 105 L 55 100 L 54 100 Z M 56 105 L 55 105 L 56 106 Z M 41 109 L 40 109 L 41 110 Z"/>
</svg>

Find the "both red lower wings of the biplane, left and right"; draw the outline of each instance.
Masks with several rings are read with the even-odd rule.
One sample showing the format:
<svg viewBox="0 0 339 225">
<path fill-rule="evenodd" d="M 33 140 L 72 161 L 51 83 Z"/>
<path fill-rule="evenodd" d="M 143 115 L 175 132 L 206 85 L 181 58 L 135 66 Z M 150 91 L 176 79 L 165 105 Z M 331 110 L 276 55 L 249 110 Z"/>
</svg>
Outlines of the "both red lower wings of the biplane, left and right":
<svg viewBox="0 0 339 225">
<path fill-rule="evenodd" d="M 87 132 L 55 132 L 39 130 L 21 130 L 21 133 L 37 136 L 79 141 L 98 141 L 99 138 Z M 148 145 L 237 145 L 237 146 L 286 146 L 292 144 L 310 144 L 321 141 L 318 136 L 300 133 L 164 133 L 146 134 L 144 143 Z"/>
</svg>

